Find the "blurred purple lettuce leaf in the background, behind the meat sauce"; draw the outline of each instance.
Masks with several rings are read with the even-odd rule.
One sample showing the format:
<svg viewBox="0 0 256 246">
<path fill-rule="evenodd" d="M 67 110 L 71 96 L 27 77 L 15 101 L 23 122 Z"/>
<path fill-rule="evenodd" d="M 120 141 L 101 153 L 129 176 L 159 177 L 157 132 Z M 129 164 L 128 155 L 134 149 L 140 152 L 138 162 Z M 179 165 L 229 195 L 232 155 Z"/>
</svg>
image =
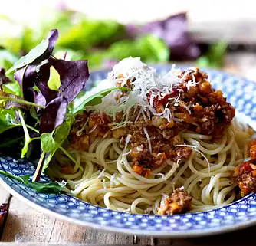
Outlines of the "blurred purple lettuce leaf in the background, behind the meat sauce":
<svg viewBox="0 0 256 246">
<path fill-rule="evenodd" d="M 195 59 L 199 57 L 199 47 L 192 41 L 188 31 L 186 13 L 172 15 L 161 21 L 152 21 L 141 27 L 127 25 L 126 31 L 131 36 L 154 34 L 169 46 L 172 60 Z"/>
</svg>

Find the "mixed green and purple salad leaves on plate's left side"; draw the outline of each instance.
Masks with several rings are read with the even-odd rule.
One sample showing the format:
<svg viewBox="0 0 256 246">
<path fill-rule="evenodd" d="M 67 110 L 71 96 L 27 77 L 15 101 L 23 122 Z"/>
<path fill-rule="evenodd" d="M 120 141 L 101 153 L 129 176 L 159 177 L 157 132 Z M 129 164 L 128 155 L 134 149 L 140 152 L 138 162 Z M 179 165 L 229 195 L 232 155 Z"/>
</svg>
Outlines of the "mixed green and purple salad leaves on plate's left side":
<svg viewBox="0 0 256 246">
<path fill-rule="evenodd" d="M 113 90 L 130 90 L 127 87 L 113 87 L 86 97 L 81 90 L 90 76 L 87 60 L 65 61 L 54 57 L 52 53 L 57 38 L 58 31 L 50 31 L 47 41 L 42 41 L 9 69 L 15 70 L 16 82 L 10 82 L 5 70 L 1 69 L 0 151 L 4 153 L 5 148 L 16 146 L 21 151 L 21 158 L 31 159 L 30 149 L 34 148 L 33 153 L 36 154 L 31 161 L 39 161 L 32 182 L 28 175 L 16 177 L 8 172 L 0 173 L 31 185 L 38 192 L 62 190 L 57 182 L 37 182 L 58 149 L 76 163 L 63 146 L 75 115 L 86 106 L 97 105 Z M 11 83 L 17 83 L 18 87 L 8 87 Z M 5 88 L 12 90 L 9 89 L 7 93 Z M 77 96 L 79 100 L 84 100 L 74 108 L 72 105 Z M 18 136 L 12 132 L 15 129 L 19 129 Z M 9 136 L 15 137 L 10 139 Z"/>
</svg>

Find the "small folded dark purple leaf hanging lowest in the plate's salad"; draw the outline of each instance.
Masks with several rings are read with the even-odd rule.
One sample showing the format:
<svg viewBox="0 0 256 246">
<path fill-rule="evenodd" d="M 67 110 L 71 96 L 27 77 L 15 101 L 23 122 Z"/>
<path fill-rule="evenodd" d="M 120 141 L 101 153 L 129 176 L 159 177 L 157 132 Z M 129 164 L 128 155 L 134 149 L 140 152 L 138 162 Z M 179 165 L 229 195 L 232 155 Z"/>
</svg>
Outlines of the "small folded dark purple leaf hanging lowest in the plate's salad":
<svg viewBox="0 0 256 246">
<path fill-rule="evenodd" d="M 64 122 L 67 112 L 67 99 L 63 96 L 51 100 L 40 118 L 40 133 L 51 133 Z"/>
</svg>

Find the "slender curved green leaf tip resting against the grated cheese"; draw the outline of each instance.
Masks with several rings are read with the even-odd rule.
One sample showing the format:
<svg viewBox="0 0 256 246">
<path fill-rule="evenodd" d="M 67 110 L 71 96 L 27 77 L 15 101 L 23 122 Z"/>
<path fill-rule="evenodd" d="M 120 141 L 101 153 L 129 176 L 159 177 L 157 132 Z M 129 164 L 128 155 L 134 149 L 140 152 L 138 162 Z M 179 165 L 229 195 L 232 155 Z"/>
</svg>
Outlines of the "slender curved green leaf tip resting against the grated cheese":
<svg viewBox="0 0 256 246">
<path fill-rule="evenodd" d="M 94 94 L 90 97 L 87 97 L 87 99 L 85 99 L 83 101 L 83 103 L 80 103 L 79 106 L 74 108 L 73 113 L 77 113 L 80 110 L 84 110 L 84 107 L 87 106 L 87 105 L 94 106 L 94 105 L 100 104 L 101 101 L 102 101 L 102 98 L 107 96 L 107 94 L 109 94 L 112 90 L 130 91 L 131 89 L 128 88 L 128 87 L 112 87 L 112 88 L 109 88 L 109 89 L 106 89 L 106 90 L 101 90 L 100 92 L 98 92 L 98 93 L 96 93 L 96 94 Z"/>
</svg>

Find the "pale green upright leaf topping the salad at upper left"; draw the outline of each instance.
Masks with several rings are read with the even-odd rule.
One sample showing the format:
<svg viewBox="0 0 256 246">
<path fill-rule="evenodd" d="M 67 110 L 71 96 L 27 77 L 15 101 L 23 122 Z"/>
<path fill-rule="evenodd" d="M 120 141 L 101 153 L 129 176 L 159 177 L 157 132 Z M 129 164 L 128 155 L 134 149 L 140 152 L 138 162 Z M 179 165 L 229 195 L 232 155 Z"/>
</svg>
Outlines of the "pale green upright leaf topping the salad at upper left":
<svg viewBox="0 0 256 246">
<path fill-rule="evenodd" d="M 36 58 L 40 57 L 44 54 L 44 51 L 48 48 L 49 41 L 43 39 L 40 44 L 38 44 L 35 48 L 31 49 L 28 54 L 21 57 L 15 64 L 6 72 L 6 74 L 10 74 L 12 71 L 15 71 L 18 68 L 24 67 L 28 64 L 31 64 Z"/>
</svg>

